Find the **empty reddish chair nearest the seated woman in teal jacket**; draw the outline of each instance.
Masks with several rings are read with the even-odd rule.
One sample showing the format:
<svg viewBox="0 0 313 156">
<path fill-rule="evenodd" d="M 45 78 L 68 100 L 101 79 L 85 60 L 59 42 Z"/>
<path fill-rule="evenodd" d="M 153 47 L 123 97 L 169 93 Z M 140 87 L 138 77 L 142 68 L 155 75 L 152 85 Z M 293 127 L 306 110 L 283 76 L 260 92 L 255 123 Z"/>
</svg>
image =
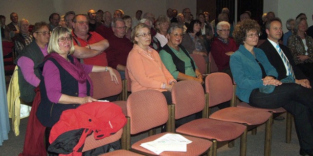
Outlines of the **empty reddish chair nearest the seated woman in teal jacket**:
<svg viewBox="0 0 313 156">
<path fill-rule="evenodd" d="M 205 92 L 208 108 L 230 101 L 233 97 L 233 83 L 226 73 L 211 73 L 205 78 Z M 233 101 L 233 100 L 231 100 Z M 209 111 L 208 111 L 209 112 Z M 216 111 L 209 116 L 211 119 L 236 122 L 247 125 L 248 130 L 266 123 L 264 156 L 270 156 L 272 114 L 268 111 L 228 107 Z"/>
</svg>

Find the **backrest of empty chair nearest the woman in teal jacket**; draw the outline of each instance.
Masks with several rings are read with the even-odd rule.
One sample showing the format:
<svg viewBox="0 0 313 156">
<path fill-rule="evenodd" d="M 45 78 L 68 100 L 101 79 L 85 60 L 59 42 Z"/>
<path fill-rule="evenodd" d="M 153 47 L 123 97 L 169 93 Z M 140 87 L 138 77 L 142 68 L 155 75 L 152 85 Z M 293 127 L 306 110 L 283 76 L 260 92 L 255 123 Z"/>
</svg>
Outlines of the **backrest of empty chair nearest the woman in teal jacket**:
<svg viewBox="0 0 313 156">
<path fill-rule="evenodd" d="M 205 78 L 205 92 L 208 93 L 209 107 L 231 100 L 233 83 L 230 76 L 222 72 L 209 74 Z"/>
</svg>

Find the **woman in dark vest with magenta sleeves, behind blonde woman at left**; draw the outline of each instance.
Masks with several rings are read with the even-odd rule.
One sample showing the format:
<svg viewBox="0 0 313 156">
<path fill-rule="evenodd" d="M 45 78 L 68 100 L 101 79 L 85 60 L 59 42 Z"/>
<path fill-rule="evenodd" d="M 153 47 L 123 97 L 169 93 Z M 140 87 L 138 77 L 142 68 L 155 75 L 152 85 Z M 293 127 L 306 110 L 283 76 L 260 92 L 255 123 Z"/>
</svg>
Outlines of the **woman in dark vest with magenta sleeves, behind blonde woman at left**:
<svg viewBox="0 0 313 156">
<path fill-rule="evenodd" d="M 19 67 L 20 98 L 27 103 L 34 100 L 34 89 L 39 86 L 40 83 L 38 66 L 44 61 L 44 57 L 48 54 L 47 49 L 50 39 L 49 26 L 45 22 L 35 23 L 32 32 L 35 40 L 29 45 L 26 45 L 22 53 L 15 60 L 15 64 Z"/>
</svg>

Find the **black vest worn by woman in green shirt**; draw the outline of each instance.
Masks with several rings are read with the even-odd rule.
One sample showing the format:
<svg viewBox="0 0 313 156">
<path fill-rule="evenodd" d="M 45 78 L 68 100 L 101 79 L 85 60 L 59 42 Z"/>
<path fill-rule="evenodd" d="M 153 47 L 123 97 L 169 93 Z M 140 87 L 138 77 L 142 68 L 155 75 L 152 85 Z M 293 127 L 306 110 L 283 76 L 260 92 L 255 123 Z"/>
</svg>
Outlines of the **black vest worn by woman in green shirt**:
<svg viewBox="0 0 313 156">
<path fill-rule="evenodd" d="M 185 49 L 184 46 L 179 45 L 179 47 L 182 49 L 182 51 L 190 58 L 190 63 L 194 71 L 196 70 L 195 63 L 191 59 L 189 53 Z M 177 68 L 177 70 L 181 73 L 185 74 L 185 62 L 181 61 L 174 53 L 174 51 L 166 44 L 162 47 L 163 50 L 165 50 L 167 53 L 169 53 L 172 56 L 173 62 Z"/>
</svg>

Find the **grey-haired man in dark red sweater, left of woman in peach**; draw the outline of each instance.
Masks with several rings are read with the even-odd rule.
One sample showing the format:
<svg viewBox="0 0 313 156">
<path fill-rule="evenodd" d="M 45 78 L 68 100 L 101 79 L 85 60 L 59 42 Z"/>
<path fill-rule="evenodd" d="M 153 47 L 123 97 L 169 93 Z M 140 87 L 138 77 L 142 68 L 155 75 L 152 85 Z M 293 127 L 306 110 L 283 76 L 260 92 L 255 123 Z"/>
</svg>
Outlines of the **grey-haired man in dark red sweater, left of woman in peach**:
<svg viewBox="0 0 313 156">
<path fill-rule="evenodd" d="M 125 25 L 124 20 L 113 19 L 112 30 L 114 35 L 109 39 L 110 46 L 106 50 L 109 66 L 118 70 L 122 79 L 125 79 L 127 56 L 133 48 L 133 43 L 125 37 Z"/>
</svg>

